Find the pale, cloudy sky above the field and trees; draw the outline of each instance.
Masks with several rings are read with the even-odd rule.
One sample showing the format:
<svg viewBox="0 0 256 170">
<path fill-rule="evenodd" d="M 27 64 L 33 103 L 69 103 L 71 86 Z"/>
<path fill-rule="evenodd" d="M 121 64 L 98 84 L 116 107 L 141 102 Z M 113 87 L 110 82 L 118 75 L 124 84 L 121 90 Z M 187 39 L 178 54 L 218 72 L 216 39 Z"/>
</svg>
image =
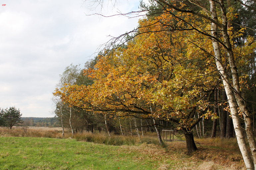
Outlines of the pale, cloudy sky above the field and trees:
<svg viewBox="0 0 256 170">
<path fill-rule="evenodd" d="M 139 0 L 114 2 L 89 9 L 83 0 L 0 0 L 0 108 L 54 117 L 52 93 L 65 67 L 83 67 L 110 36 L 138 25 L 138 18 L 89 15 L 138 11 Z"/>
</svg>

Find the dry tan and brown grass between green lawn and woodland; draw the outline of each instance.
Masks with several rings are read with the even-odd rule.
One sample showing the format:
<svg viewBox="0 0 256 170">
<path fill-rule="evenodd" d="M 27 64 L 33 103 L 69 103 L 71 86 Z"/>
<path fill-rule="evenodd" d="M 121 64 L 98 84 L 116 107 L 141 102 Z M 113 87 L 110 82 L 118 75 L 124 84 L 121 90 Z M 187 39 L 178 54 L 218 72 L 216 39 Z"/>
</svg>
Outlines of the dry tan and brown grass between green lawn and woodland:
<svg viewBox="0 0 256 170">
<path fill-rule="evenodd" d="M 94 142 L 107 145 L 121 145 L 125 153 L 133 151 L 147 155 L 152 161 L 163 160 L 158 170 L 245 170 L 242 155 L 237 141 L 232 139 L 203 138 L 195 139 L 198 150 L 187 155 L 185 141 L 165 141 L 165 146 L 157 145 L 157 137 L 148 133 L 142 140 L 137 136 L 113 135 L 107 133 L 77 133 L 73 136 L 76 140 Z M 0 128 L 0 136 L 28 136 L 28 137 L 52 137 L 69 138 L 70 132 L 62 136 L 61 128 L 33 127 L 24 133 L 22 128 L 15 127 L 12 130 Z M 8 153 L 6 153 L 8 154 Z M 139 154 L 138 154 L 139 155 Z M 0 156 L 5 157 L 5 154 Z M 143 161 L 145 157 L 136 157 Z M 172 163 L 170 163 L 172 162 Z"/>
</svg>

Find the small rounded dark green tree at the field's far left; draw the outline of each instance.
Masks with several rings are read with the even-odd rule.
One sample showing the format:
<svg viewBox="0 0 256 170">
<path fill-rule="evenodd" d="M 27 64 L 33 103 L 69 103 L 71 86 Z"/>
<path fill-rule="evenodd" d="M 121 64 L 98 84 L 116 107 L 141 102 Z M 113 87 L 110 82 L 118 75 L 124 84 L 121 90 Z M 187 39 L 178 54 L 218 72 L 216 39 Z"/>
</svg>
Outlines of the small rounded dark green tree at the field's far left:
<svg viewBox="0 0 256 170">
<path fill-rule="evenodd" d="M 21 116 L 20 109 L 16 109 L 15 107 L 6 108 L 4 113 L 5 126 L 12 129 L 15 124 L 21 121 Z"/>
</svg>

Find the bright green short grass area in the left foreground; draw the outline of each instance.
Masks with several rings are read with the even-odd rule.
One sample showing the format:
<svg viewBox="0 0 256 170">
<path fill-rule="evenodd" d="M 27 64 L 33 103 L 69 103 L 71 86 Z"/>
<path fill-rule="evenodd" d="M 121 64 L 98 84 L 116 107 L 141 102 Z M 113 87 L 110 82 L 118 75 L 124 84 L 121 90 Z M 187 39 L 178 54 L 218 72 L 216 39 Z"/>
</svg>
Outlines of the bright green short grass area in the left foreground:
<svg viewBox="0 0 256 170">
<path fill-rule="evenodd" d="M 0 169 L 5 170 L 150 170 L 163 163 L 172 164 L 170 159 L 164 159 L 165 154 L 158 155 L 159 149 L 155 146 L 141 145 L 132 149 L 74 139 L 36 137 L 0 137 L 0 145 Z"/>
</svg>

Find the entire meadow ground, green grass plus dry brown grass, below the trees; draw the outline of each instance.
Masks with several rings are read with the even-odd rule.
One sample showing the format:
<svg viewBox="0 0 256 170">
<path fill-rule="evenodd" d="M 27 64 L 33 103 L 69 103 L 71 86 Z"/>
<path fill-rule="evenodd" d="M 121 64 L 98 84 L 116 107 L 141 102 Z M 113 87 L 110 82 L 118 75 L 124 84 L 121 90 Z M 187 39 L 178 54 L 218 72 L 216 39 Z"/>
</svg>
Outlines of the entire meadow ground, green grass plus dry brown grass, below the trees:
<svg viewBox="0 0 256 170">
<path fill-rule="evenodd" d="M 4 170 L 245 170 L 236 139 L 195 139 L 186 154 L 175 137 L 160 146 L 154 133 L 137 136 L 70 133 L 58 128 L 0 128 L 0 169 Z M 177 140 L 179 139 L 179 140 Z"/>
</svg>

